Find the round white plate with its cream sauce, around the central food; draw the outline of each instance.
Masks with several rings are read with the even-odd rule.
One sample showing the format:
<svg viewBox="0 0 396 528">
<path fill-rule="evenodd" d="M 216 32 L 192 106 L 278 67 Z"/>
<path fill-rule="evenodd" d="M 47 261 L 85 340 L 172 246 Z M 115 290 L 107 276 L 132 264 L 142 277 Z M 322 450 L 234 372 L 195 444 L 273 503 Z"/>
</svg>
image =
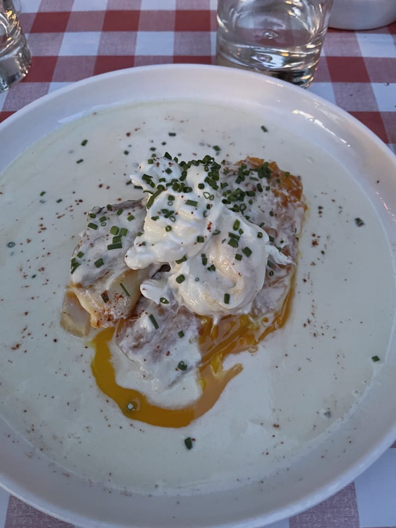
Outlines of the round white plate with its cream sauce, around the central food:
<svg viewBox="0 0 396 528">
<path fill-rule="evenodd" d="M 7 119 L 0 135 L 5 489 L 82 526 L 262 526 L 335 493 L 390 446 L 396 161 L 359 122 L 255 73 L 165 65 L 54 92 Z M 245 357 L 243 376 L 206 421 L 166 433 L 165 443 L 162 430 L 142 426 L 140 452 L 130 422 L 90 377 L 92 351 L 62 332 L 58 314 L 83 211 L 125 198 L 133 162 L 164 140 L 186 158 L 219 145 L 220 157 L 275 159 L 302 175 L 309 214 L 286 327 L 261 359 Z M 197 441 L 187 452 L 188 433 Z M 254 458 L 260 435 L 263 456 Z M 178 438 L 181 447 L 163 447 Z M 168 480 L 164 459 L 180 465 Z"/>
</svg>

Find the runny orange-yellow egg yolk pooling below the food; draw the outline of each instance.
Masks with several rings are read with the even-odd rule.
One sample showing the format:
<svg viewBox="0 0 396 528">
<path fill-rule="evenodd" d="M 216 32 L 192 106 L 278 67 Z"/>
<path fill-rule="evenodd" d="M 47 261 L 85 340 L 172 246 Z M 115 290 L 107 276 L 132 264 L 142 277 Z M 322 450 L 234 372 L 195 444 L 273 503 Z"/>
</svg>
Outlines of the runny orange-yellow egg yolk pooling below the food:
<svg viewBox="0 0 396 528">
<path fill-rule="evenodd" d="M 209 411 L 228 382 L 242 371 L 240 363 L 224 370 L 225 357 L 257 346 L 266 335 L 282 327 L 289 315 L 291 297 L 292 291 L 289 291 L 274 322 L 268 326 L 265 325 L 265 319 L 262 320 L 262 326 L 249 315 L 227 316 L 218 325 L 204 318 L 199 337 L 202 361 L 197 376 L 202 392 L 197 400 L 186 407 L 169 409 L 157 406 L 150 403 L 144 394 L 117 384 L 109 348 L 114 328 L 101 331 L 91 342 L 95 349 L 91 364 L 93 375 L 100 390 L 114 400 L 128 418 L 158 427 L 185 427 Z"/>
</svg>

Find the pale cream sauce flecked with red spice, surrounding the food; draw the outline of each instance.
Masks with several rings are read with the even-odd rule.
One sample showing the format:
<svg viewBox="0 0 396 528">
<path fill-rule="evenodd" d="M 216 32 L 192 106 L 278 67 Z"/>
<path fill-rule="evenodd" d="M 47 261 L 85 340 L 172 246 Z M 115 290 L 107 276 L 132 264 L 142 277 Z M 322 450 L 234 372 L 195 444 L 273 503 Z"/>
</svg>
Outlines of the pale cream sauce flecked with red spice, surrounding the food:
<svg viewBox="0 0 396 528">
<path fill-rule="evenodd" d="M 265 122 L 265 134 L 261 125 L 253 112 L 193 102 L 112 108 L 40 140 L 3 174 L 0 308 L 12 317 L 1 319 L 1 412 L 69 472 L 157 494 L 238 486 L 335 435 L 369 390 L 394 312 L 381 224 L 340 162 L 281 124 Z M 224 369 L 242 363 L 242 372 L 189 426 L 132 422 L 93 380 L 92 349 L 60 328 L 76 233 L 92 205 L 134 198 L 128 175 L 150 148 L 188 159 L 215 145 L 219 159 L 274 159 L 303 177 L 310 210 L 291 314 L 257 352 L 227 358 Z M 114 365 L 117 382 L 134 386 L 129 360 L 119 354 Z"/>
</svg>

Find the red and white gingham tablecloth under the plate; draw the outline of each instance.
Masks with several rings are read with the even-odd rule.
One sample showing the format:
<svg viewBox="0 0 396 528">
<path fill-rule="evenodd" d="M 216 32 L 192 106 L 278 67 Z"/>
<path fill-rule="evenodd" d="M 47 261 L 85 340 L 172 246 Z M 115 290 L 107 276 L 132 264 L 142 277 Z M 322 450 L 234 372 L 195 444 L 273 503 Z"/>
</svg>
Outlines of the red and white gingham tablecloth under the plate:
<svg viewBox="0 0 396 528">
<path fill-rule="evenodd" d="M 0 95 L 0 121 L 48 92 L 98 73 L 145 64 L 214 63 L 216 0 L 21 3 L 21 23 L 33 63 L 23 82 Z M 396 23 L 373 31 L 329 30 L 309 90 L 350 112 L 396 153 Z M 4 148 L 2 138 L 0 145 Z M 0 488 L 0 528 L 70 526 Z M 396 449 L 392 448 L 327 501 L 272 525 L 390 527 L 396 528 Z"/>
</svg>

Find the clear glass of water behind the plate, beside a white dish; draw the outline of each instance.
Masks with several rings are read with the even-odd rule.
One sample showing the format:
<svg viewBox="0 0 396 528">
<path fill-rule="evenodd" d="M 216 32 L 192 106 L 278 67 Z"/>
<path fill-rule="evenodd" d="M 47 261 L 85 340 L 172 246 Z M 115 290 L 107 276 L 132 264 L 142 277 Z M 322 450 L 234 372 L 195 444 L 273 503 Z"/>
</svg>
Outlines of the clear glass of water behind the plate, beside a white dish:
<svg viewBox="0 0 396 528">
<path fill-rule="evenodd" d="M 217 63 L 312 82 L 333 0 L 218 0 Z"/>
</svg>

